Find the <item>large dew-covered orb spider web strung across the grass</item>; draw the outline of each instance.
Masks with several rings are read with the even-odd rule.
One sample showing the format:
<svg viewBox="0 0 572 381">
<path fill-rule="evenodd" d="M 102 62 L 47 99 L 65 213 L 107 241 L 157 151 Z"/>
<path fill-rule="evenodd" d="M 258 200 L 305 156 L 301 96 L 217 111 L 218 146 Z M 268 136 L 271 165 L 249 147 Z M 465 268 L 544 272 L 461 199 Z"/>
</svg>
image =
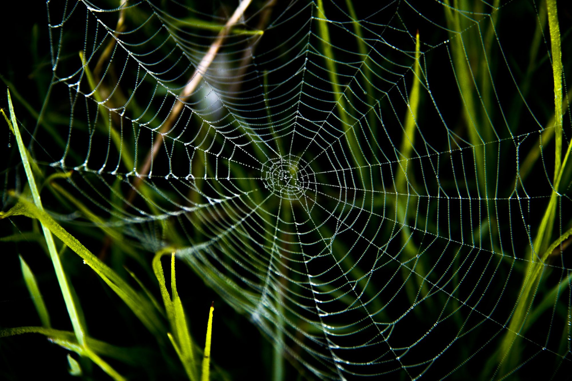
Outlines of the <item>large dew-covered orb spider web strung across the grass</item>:
<svg viewBox="0 0 572 381">
<path fill-rule="evenodd" d="M 319 378 L 569 370 L 545 5 L 372 3 L 50 0 L 38 141 Z"/>
</svg>

